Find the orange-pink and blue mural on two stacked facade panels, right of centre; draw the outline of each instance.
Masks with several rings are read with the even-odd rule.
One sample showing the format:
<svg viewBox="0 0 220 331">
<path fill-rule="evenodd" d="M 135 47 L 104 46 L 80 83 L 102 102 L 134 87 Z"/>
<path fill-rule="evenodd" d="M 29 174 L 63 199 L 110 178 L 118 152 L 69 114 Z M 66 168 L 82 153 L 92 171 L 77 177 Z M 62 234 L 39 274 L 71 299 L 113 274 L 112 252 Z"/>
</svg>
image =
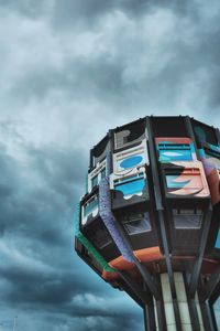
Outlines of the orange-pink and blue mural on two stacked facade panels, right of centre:
<svg viewBox="0 0 220 331">
<path fill-rule="evenodd" d="M 167 195 L 209 196 L 204 167 L 189 138 L 156 138 Z"/>
</svg>

